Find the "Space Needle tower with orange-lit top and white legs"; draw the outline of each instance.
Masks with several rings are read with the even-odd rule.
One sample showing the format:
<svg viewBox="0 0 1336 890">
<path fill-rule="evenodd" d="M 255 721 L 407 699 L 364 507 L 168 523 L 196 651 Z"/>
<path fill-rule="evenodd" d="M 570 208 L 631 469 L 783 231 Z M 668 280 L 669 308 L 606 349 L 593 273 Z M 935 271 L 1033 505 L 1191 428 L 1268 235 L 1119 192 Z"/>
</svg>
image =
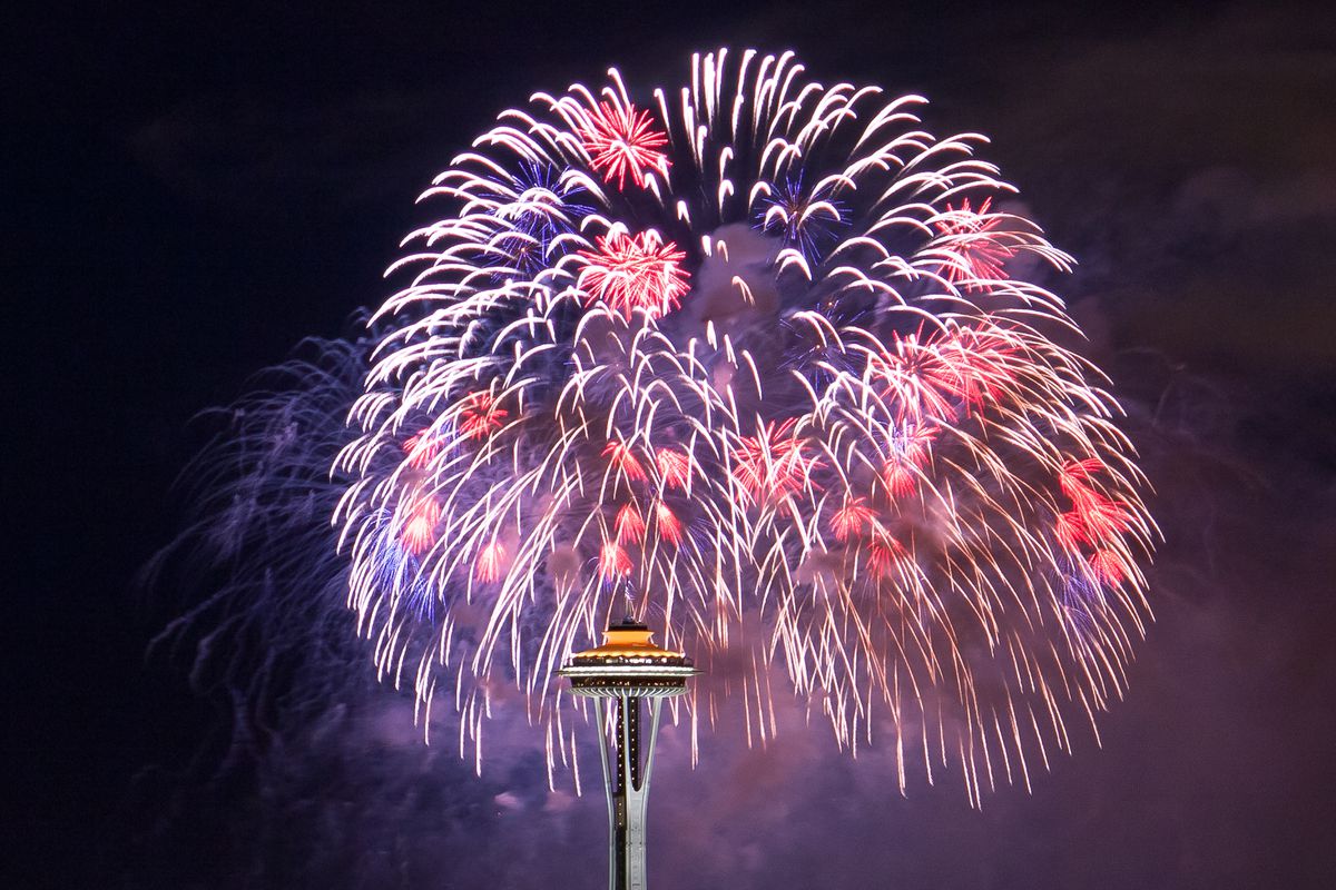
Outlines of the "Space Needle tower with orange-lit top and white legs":
<svg viewBox="0 0 1336 890">
<path fill-rule="evenodd" d="M 576 652 L 558 671 L 576 695 L 601 699 L 596 709 L 608 791 L 611 890 L 645 890 L 645 803 L 659 711 L 665 698 L 683 695 L 687 679 L 699 673 L 683 652 L 660 648 L 652 638 L 648 627 L 628 616 L 608 626 L 603 646 Z M 648 730 L 641 699 L 649 710 Z"/>
</svg>

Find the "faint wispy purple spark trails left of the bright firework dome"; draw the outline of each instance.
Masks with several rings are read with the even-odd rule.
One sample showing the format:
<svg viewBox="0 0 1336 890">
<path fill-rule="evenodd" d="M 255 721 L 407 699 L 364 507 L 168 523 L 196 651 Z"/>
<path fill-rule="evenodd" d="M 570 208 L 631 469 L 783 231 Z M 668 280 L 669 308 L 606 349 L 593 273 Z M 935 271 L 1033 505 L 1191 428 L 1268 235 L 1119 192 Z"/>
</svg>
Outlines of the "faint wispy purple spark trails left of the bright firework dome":
<svg viewBox="0 0 1336 890">
<path fill-rule="evenodd" d="M 359 689 L 350 667 L 363 647 L 342 608 L 349 568 L 329 526 L 346 480 L 329 467 L 351 439 L 343 418 L 370 348 L 369 338 L 307 339 L 255 391 L 208 412 L 223 428 L 182 474 L 190 523 L 144 568 L 146 588 L 188 603 L 152 648 L 187 655 L 191 685 L 231 709 L 219 774 Z M 407 562 L 381 571 L 414 595 Z"/>
</svg>

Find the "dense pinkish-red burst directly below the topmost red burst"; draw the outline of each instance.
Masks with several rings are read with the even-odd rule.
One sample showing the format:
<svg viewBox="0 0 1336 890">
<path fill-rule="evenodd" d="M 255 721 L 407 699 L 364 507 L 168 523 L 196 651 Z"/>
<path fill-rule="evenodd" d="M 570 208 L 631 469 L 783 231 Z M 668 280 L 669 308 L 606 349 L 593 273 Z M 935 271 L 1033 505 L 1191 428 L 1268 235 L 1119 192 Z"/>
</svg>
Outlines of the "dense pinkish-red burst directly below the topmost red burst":
<svg viewBox="0 0 1336 890">
<path fill-rule="evenodd" d="M 651 320 L 672 312 L 691 286 L 681 262 L 687 255 L 672 242 L 661 243 L 655 232 L 628 236 L 600 235 L 596 251 L 580 251 L 587 266 L 580 287 L 593 300 L 603 300 L 628 319 L 641 310 Z"/>
</svg>

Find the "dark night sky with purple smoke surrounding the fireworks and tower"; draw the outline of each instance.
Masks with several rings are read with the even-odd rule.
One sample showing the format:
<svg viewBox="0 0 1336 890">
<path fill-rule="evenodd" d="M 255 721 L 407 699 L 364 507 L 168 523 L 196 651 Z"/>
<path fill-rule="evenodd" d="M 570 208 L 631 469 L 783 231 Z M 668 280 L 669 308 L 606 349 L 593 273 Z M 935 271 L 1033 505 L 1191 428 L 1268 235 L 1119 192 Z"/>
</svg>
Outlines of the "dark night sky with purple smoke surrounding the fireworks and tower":
<svg viewBox="0 0 1336 890">
<path fill-rule="evenodd" d="M 318 12 L 313 12 L 318 9 Z M 32 5 L 4 21 L 9 887 L 596 887 L 604 803 L 474 778 L 349 681 L 238 759 L 180 607 L 192 422 L 387 294 L 413 201 L 534 89 L 720 44 L 919 92 L 1050 239 L 1166 542 L 1130 694 L 1033 794 L 895 791 L 824 729 L 651 806 L 660 887 L 1328 887 L 1336 875 L 1336 16 L 1324 4 Z M 367 673 L 370 673 L 367 670 Z M 516 738 L 520 738 L 516 735 Z M 537 745 L 534 745 L 537 750 Z M 589 761 L 592 765 L 595 761 Z M 664 778 L 671 777 L 671 778 Z"/>
</svg>

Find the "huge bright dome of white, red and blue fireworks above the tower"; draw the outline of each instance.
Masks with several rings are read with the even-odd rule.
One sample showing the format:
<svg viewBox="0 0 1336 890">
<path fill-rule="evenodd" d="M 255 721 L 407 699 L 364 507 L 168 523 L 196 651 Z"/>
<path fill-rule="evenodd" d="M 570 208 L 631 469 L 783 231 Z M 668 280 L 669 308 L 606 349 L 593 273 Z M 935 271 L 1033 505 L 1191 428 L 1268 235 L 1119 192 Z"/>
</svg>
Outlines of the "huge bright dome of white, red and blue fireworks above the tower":
<svg viewBox="0 0 1336 890">
<path fill-rule="evenodd" d="M 1069 259 L 916 96 L 719 51 L 636 101 L 611 71 L 504 112 L 391 270 L 338 460 L 381 670 L 461 749 L 520 690 L 558 761 L 554 670 L 629 608 L 711 675 L 693 722 L 728 690 L 764 742 L 787 677 L 902 787 L 1029 782 L 1121 695 L 1156 534 L 1061 302 L 1011 275 Z"/>
</svg>

